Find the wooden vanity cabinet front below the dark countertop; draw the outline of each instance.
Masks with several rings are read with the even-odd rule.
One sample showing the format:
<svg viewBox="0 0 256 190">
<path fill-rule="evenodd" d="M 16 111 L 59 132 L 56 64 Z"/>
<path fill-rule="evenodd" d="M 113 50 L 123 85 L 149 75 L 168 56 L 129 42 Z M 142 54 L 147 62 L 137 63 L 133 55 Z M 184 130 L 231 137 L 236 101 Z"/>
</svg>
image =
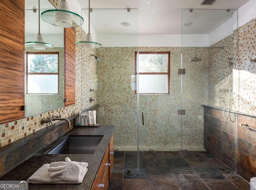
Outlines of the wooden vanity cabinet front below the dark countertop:
<svg viewBox="0 0 256 190">
<path fill-rule="evenodd" d="M 110 152 L 112 151 L 112 152 Z M 114 165 L 114 136 L 111 136 L 110 142 L 103 156 L 102 162 L 92 184 L 91 190 L 107 190 L 111 173 Z"/>
</svg>

